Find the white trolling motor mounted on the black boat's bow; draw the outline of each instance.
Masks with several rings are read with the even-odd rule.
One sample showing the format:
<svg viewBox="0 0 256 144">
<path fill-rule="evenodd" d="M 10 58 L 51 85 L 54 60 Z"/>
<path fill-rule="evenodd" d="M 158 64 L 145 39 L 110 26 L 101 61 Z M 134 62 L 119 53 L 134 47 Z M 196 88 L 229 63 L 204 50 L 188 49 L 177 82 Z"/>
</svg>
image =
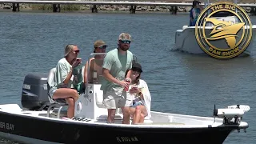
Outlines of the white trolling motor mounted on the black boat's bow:
<svg viewBox="0 0 256 144">
<path fill-rule="evenodd" d="M 227 106 L 225 109 L 216 109 L 214 105 L 214 122 L 215 117 L 223 118 L 223 124 L 225 125 L 239 125 L 243 114 L 250 110 L 250 106 L 246 105 L 234 105 Z"/>
</svg>

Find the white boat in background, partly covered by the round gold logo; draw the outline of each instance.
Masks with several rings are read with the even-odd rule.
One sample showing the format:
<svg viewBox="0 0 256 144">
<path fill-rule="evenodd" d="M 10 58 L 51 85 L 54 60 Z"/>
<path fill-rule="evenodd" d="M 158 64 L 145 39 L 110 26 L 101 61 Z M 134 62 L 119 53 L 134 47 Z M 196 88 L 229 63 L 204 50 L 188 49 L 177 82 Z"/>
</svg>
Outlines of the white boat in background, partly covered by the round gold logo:
<svg viewBox="0 0 256 144">
<path fill-rule="evenodd" d="M 208 3 L 209 2 L 205 2 L 206 6 L 208 6 Z M 234 3 L 236 3 L 236 1 L 234 1 Z M 216 14 L 216 17 L 211 18 L 215 18 L 224 22 L 233 22 L 233 25 L 238 23 L 238 18 L 236 16 L 230 16 L 230 14 L 227 14 L 225 12 L 222 12 L 218 15 Z M 215 26 L 213 23 L 207 22 L 205 27 L 198 26 L 198 29 L 204 29 L 205 34 L 210 34 L 214 27 Z M 245 30 L 249 30 L 250 26 L 245 25 L 244 28 Z M 195 26 L 183 26 L 182 30 L 177 30 L 175 34 L 175 45 L 173 50 L 178 50 L 189 54 L 206 54 L 206 51 L 202 50 L 202 48 L 198 44 L 195 31 Z M 239 56 L 253 54 L 255 47 L 254 38 L 256 34 L 256 25 L 252 25 L 252 32 L 253 34 L 249 46 L 247 46 L 246 50 L 244 50 Z M 238 37 L 240 36 L 242 36 L 242 33 L 238 34 Z M 228 43 L 224 39 L 218 40 L 218 42 L 214 42 L 214 46 L 218 48 L 229 47 Z M 206 49 L 208 50 L 209 47 L 206 46 Z"/>
</svg>

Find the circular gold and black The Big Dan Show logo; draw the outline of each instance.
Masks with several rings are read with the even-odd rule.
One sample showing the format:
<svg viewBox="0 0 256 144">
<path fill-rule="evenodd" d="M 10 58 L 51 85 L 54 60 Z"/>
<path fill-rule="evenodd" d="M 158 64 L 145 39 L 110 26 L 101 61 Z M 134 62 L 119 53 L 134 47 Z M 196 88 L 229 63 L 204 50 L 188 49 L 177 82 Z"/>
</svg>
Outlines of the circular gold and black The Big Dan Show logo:
<svg viewBox="0 0 256 144">
<path fill-rule="evenodd" d="M 214 58 L 234 58 L 249 46 L 252 25 L 242 7 L 231 2 L 217 2 L 207 6 L 198 16 L 195 36 L 206 54 Z"/>
</svg>

